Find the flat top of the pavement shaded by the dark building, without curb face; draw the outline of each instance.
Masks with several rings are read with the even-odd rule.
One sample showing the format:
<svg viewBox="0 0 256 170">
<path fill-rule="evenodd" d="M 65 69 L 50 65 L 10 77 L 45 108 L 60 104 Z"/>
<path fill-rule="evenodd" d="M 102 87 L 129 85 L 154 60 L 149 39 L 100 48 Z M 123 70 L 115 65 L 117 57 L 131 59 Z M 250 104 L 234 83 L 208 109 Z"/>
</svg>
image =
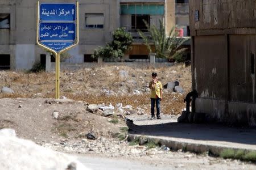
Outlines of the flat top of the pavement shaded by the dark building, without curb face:
<svg viewBox="0 0 256 170">
<path fill-rule="evenodd" d="M 130 134 L 147 135 L 197 145 L 240 148 L 256 151 L 256 128 L 237 128 L 221 124 L 178 124 L 177 116 L 163 115 L 149 120 L 148 115 L 130 116 L 134 126 Z"/>
</svg>

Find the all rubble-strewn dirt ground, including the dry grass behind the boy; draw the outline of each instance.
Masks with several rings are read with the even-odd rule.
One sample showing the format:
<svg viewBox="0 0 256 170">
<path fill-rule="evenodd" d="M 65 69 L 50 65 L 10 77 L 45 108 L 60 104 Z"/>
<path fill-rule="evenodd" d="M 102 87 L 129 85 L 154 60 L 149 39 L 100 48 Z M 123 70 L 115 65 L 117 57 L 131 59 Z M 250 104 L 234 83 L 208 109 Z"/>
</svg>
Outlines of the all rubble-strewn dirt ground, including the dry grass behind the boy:
<svg viewBox="0 0 256 170">
<path fill-rule="evenodd" d="M 125 71 L 125 76 L 120 72 Z M 101 155 L 105 158 L 128 158 L 154 166 L 169 165 L 177 169 L 253 169 L 236 160 L 166 151 L 133 145 L 126 140 L 127 126 L 123 115 L 102 116 L 89 112 L 89 104 L 131 105 L 150 116 L 151 73 L 159 75 L 162 84 L 179 81 L 184 93 L 164 89 L 162 114 L 175 116 L 185 108 L 183 99 L 191 91 L 191 68 L 183 64 L 154 68 L 152 66 L 104 66 L 76 71 L 61 70 L 60 100 L 55 100 L 55 73 L 0 71 L 0 88 L 14 94 L 0 93 L 0 129 L 13 128 L 18 137 L 69 154 Z M 54 118 L 54 113 L 58 113 Z M 138 113 L 138 112 L 137 112 Z M 136 116 L 136 112 L 130 113 Z M 92 133 L 97 139 L 86 139 Z M 164 158 L 164 159 L 163 159 Z M 171 161 L 170 161 L 171 160 Z M 195 165 L 191 165 L 195 164 Z M 193 168 L 191 168 L 191 166 Z M 210 168 L 211 169 L 211 168 Z"/>
</svg>

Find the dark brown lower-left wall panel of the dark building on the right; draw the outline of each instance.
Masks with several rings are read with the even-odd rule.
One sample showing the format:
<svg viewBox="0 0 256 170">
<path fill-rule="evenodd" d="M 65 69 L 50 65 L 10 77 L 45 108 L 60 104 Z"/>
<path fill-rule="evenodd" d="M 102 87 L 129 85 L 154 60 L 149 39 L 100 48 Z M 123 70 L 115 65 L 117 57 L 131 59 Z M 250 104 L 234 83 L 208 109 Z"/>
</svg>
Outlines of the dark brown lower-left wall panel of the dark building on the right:
<svg viewBox="0 0 256 170">
<path fill-rule="evenodd" d="M 199 97 L 228 99 L 226 36 L 195 37 L 194 81 Z"/>
</svg>

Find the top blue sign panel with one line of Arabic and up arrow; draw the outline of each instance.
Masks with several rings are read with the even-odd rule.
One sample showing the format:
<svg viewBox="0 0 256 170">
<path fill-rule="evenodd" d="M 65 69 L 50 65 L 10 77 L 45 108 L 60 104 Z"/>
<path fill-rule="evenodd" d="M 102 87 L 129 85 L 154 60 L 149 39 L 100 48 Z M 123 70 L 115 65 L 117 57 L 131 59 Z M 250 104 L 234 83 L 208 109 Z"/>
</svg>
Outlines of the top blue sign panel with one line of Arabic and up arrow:
<svg viewBox="0 0 256 170">
<path fill-rule="evenodd" d="M 76 5 L 70 3 L 42 3 L 39 19 L 41 21 L 75 21 Z"/>
</svg>

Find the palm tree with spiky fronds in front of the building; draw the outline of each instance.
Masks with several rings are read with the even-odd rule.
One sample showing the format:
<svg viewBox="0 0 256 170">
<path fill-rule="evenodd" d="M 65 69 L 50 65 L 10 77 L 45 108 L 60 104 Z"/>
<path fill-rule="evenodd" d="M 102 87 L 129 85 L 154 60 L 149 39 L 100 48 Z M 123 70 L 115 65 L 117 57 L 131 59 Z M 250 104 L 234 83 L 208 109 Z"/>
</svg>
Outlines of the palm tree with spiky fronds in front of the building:
<svg viewBox="0 0 256 170">
<path fill-rule="evenodd" d="M 144 44 L 147 46 L 150 53 L 153 52 L 153 45 L 157 58 L 174 58 L 180 61 L 182 54 L 186 50 L 185 48 L 181 48 L 181 45 L 187 41 L 187 39 L 177 38 L 175 27 L 171 29 L 169 35 L 167 36 L 165 25 L 161 20 L 159 20 L 159 29 L 156 28 L 155 25 L 148 25 L 145 20 L 143 20 L 143 22 L 145 23 L 147 30 L 150 33 L 150 37 L 147 37 L 141 30 L 138 30 L 138 32 L 144 40 Z"/>
</svg>

